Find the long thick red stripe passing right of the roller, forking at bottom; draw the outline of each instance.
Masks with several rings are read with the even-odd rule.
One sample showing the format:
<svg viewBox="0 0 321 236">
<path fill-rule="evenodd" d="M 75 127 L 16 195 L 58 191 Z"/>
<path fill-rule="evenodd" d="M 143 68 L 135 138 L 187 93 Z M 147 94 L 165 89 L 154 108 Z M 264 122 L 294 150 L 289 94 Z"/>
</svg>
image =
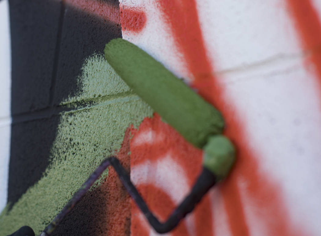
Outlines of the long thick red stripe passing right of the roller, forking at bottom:
<svg viewBox="0 0 321 236">
<path fill-rule="evenodd" d="M 187 67 L 194 75 L 192 86 L 222 112 L 226 122 L 224 133 L 237 147 L 238 156 L 234 170 L 221 187 L 232 234 L 247 235 L 249 233 L 237 186 L 239 177 L 246 180 L 248 192 L 253 199 L 258 200 L 256 207 L 267 209 L 267 214 L 273 216 L 274 221 L 266 223 L 272 234 L 297 234 L 287 220 L 287 213 L 279 194 L 280 188 L 267 176 L 257 171 L 257 158 L 259 157 L 256 157 L 250 149 L 244 125 L 238 119 L 234 105 L 225 101 L 224 89 L 213 75 L 214 69 L 206 56 L 195 0 L 184 1 L 184 5 L 177 0 L 165 0 L 160 1 L 160 5 L 177 46 L 185 55 Z"/>
</svg>

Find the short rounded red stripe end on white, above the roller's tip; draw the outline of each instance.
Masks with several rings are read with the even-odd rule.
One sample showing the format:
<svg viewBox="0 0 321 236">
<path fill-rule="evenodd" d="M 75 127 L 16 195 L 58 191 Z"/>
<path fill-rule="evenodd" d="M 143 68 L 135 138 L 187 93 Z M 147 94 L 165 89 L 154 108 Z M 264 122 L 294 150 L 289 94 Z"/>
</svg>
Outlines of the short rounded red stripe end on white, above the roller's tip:
<svg viewBox="0 0 321 236">
<path fill-rule="evenodd" d="M 120 19 L 123 31 L 139 32 L 146 23 L 146 14 L 138 9 L 126 8 L 122 4 L 120 7 Z"/>
</svg>

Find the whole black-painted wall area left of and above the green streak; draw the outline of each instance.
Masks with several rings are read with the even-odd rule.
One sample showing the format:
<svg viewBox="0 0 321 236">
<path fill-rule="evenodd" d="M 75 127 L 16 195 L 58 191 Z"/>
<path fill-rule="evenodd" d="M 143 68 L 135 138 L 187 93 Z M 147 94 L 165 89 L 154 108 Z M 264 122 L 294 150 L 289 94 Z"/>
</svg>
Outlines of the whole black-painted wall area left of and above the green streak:
<svg viewBox="0 0 321 236">
<path fill-rule="evenodd" d="M 49 164 L 57 114 L 63 109 L 59 104 L 80 89 L 76 81 L 84 60 L 121 37 L 121 26 L 58 0 L 9 0 L 9 7 L 13 124 L 8 202 L 14 204 Z"/>
</svg>

